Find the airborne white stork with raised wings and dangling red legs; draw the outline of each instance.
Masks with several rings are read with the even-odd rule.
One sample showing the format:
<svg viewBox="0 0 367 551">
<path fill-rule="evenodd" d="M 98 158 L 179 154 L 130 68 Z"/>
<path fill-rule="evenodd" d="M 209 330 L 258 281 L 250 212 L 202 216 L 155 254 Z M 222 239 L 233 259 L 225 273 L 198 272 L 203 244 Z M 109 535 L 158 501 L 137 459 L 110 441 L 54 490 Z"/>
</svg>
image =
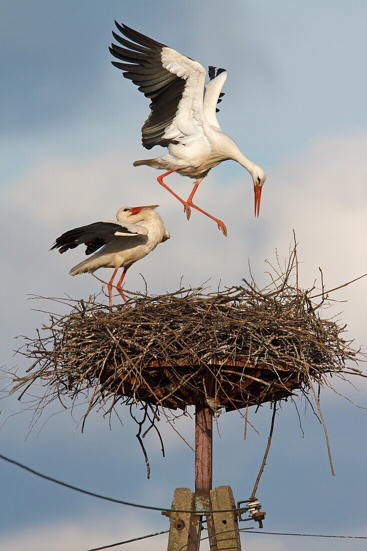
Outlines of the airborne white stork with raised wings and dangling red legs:
<svg viewBox="0 0 367 551">
<path fill-rule="evenodd" d="M 233 139 L 220 128 L 215 115 L 217 103 L 224 95 L 221 90 L 227 78 L 225 69 L 209 67 L 210 80 L 205 84 L 206 71 L 200 63 L 126 25 L 115 23 L 123 36 L 113 31 L 112 34 L 125 47 L 112 44 L 110 52 L 124 63 L 114 61 L 112 64 L 152 100 L 149 117 L 142 128 L 143 146 L 147 149 L 154 145 L 168 148 L 167 155 L 135 161 L 134 166 L 148 165 L 165 170 L 157 180 L 184 205 L 187 219 L 192 207 L 212 218 L 218 229 L 227 235 L 222 220 L 208 214 L 192 200 L 209 170 L 232 159 L 252 176 L 255 216 L 258 216 L 265 172 L 241 153 Z M 196 180 L 186 201 L 164 183 L 163 178 L 171 172 Z"/>
</svg>

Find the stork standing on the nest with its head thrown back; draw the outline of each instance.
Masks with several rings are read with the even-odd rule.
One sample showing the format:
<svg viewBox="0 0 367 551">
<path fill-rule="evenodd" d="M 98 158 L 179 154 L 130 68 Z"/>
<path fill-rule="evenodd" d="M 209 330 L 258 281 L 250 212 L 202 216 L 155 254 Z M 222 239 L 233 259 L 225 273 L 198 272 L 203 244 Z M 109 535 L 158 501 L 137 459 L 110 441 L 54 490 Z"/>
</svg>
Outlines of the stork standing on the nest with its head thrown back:
<svg viewBox="0 0 367 551">
<path fill-rule="evenodd" d="M 117 222 L 94 222 L 66 231 L 57 237 L 50 250 L 58 249 L 62 254 L 84 243 L 87 246 L 86 255 L 95 253 L 74 266 L 69 272 L 71 276 L 86 272 L 93 273 L 99 268 L 114 268 L 114 273 L 107 284 L 110 306 L 112 306 L 112 282 L 118 268 L 123 267 L 116 289 L 126 302 L 121 284 L 127 269 L 152 252 L 159 243 L 170 239 L 169 232 L 154 210 L 157 207 L 158 205 L 121 207 L 116 214 Z M 138 222 L 142 222 L 143 225 L 139 225 Z"/>
</svg>

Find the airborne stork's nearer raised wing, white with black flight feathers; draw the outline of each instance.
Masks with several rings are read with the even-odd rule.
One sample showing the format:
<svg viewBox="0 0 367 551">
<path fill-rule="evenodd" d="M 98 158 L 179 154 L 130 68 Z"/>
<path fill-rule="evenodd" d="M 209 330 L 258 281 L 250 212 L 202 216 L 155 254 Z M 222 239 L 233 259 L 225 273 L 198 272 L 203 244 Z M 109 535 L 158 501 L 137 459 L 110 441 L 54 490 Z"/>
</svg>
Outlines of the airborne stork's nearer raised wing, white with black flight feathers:
<svg viewBox="0 0 367 551">
<path fill-rule="evenodd" d="M 125 47 L 112 44 L 110 52 L 124 63 L 112 64 L 152 100 L 142 128 L 143 146 L 185 143 L 188 136 L 202 132 L 204 67 L 126 25 L 116 26 L 123 36 L 112 34 Z"/>
</svg>

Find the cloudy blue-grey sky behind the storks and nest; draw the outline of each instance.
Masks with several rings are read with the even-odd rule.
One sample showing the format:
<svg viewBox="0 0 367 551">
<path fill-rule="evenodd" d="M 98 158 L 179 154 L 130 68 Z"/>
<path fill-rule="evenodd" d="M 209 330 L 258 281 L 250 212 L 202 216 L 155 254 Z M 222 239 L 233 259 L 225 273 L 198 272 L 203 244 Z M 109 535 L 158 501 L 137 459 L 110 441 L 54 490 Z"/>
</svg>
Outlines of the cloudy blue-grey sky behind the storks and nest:
<svg viewBox="0 0 367 551">
<path fill-rule="evenodd" d="M 129 271 L 131 289 L 142 288 L 139 272 L 152 293 L 175 290 L 181 277 L 186 285 L 208 278 L 213 285 L 238 284 L 249 258 L 257 279 L 265 281 L 265 259 L 273 260 L 276 249 L 285 258 L 293 229 L 304 287 L 318 277 L 319 266 L 329 288 L 367 272 L 365 2 L 3 0 L 0 14 L 1 365 L 28 367 L 13 357 L 19 344 L 14 337 L 33 336 L 47 321 L 34 311 L 47 304 L 30 302 L 27 294 L 85 298 L 98 290 L 94 278 L 68 275 L 82 252 L 48 252 L 55 237 L 111 219 L 123 204 L 160 204 L 172 236 Z M 140 128 L 148 101 L 111 66 L 114 19 L 204 66 L 228 70 L 220 124 L 265 168 L 267 181 L 258 220 L 251 178 L 241 166 L 223 163 L 203 181 L 198 203 L 224 220 L 227 239 L 199 213 L 188 223 L 153 169 L 133 168 L 147 155 Z M 170 183 L 183 196 L 191 190 L 188 179 L 170 176 Z M 366 290 L 362 279 L 337 291 L 334 299 L 347 302 L 325 312 L 343 312 L 358 346 L 367 341 Z M 367 385 L 354 382 L 359 391 L 338 390 L 367 407 Z M 258 491 L 267 511 L 265 530 L 367 536 L 367 412 L 327 391 L 321 404 L 336 477 L 315 416 L 301 404 L 303 437 L 294 407 L 285 404 Z M 122 408 L 124 426 L 114 419 L 110 430 L 94 414 L 84 434 L 67 412 L 50 417 L 58 411 L 50 409 L 43 428 L 42 421 L 27 437 L 30 415 L 13 415 L 21 406 L 15 396 L 6 397 L 6 389 L 0 406 L 0 419 L 8 418 L 0 452 L 51 476 L 163 507 L 175 487 L 193 487 L 193 453 L 167 426 L 166 458 L 153 435 L 148 439 L 152 478 L 146 480 L 136 429 Z M 83 406 L 79 412 L 81 417 Z M 214 484 L 230 484 L 238 500 L 251 493 L 269 408 L 252 412 L 251 422 L 260 436 L 250 431 L 244 441 L 240 415 L 224 414 L 220 437 L 215 435 Z M 179 429 L 193 441 L 190 419 Z M 0 463 L 0 476 L 2 549 L 83 551 L 168 527 L 159 513 L 99 503 L 9 464 Z M 161 537 L 124 549 L 158 551 L 165 545 Z M 255 551 L 321 548 L 317 539 L 258 534 L 244 534 L 242 545 Z M 326 551 L 364 548 L 357 540 L 322 541 Z"/>
</svg>

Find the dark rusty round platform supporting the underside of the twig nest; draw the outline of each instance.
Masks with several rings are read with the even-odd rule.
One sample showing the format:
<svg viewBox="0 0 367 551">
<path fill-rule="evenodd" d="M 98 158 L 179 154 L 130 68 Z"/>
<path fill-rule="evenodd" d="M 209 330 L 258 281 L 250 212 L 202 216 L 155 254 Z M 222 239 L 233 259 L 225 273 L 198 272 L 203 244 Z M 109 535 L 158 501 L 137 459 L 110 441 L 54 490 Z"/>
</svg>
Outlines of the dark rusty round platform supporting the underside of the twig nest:
<svg viewBox="0 0 367 551">
<path fill-rule="evenodd" d="M 303 374 L 287 366 L 253 366 L 240 360 L 203 366 L 195 361 L 182 365 L 152 361 L 142 368 L 139 384 L 134 374 L 125 377 L 121 364 L 110 364 L 99 382 L 115 395 L 155 406 L 185 410 L 186 406 L 207 403 L 214 411 L 222 407 L 231 411 L 288 398 L 304 381 Z"/>
</svg>

